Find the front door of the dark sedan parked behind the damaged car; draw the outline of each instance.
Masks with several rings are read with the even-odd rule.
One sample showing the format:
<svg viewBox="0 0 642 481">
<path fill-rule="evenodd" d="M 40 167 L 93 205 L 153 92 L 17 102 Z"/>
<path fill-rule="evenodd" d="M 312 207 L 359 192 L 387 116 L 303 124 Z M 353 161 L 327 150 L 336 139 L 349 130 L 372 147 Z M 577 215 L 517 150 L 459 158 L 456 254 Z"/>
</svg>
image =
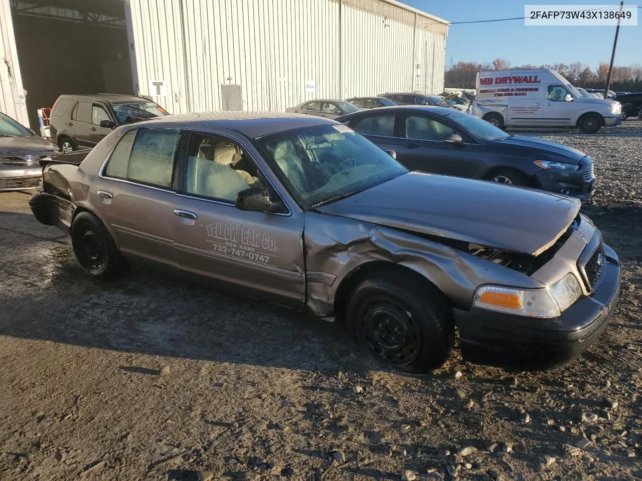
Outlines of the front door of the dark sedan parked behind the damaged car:
<svg viewBox="0 0 642 481">
<path fill-rule="evenodd" d="M 413 171 L 467 177 L 473 175 L 472 139 L 451 122 L 427 112 L 406 112 L 400 115 L 402 139 L 397 160 Z M 452 134 L 462 137 L 461 143 L 444 142 Z"/>
</svg>

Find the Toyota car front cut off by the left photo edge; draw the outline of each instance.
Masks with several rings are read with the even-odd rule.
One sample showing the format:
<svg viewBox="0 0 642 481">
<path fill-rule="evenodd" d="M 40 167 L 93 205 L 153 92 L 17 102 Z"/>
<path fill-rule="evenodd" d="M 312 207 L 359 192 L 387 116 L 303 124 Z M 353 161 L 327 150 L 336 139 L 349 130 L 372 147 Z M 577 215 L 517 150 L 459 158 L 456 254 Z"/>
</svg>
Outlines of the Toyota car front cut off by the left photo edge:
<svg viewBox="0 0 642 481">
<path fill-rule="evenodd" d="M 38 187 L 39 161 L 56 153 L 54 144 L 0 112 L 0 192 Z"/>
</svg>

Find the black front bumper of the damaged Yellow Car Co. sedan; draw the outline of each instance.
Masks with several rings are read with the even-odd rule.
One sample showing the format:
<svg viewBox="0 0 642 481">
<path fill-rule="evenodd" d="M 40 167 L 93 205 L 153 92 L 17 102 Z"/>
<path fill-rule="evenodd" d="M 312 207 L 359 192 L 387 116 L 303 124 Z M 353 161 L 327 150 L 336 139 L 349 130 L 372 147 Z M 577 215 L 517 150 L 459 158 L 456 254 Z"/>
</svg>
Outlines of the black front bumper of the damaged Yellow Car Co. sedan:
<svg viewBox="0 0 642 481">
<path fill-rule="evenodd" d="M 591 296 L 553 319 L 453 309 L 464 359 L 512 369 L 552 369 L 579 357 L 606 327 L 620 295 L 620 261 L 604 246 L 606 264 Z"/>
</svg>

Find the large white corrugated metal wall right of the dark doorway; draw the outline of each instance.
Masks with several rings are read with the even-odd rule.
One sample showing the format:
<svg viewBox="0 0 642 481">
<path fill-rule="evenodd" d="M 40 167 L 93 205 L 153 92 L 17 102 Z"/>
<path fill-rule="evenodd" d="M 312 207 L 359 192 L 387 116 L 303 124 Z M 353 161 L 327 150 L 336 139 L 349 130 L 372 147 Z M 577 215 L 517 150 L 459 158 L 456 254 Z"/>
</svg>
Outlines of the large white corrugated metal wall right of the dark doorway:
<svg viewBox="0 0 642 481">
<path fill-rule="evenodd" d="M 340 62 L 335 0 L 125 1 L 135 89 L 151 95 L 150 81 L 166 81 L 168 95 L 153 99 L 169 112 L 220 110 L 223 83 L 241 86 L 243 110 L 276 111 L 308 99 L 444 87 L 444 35 L 347 4 Z M 310 80 L 314 92 L 306 91 Z"/>
</svg>

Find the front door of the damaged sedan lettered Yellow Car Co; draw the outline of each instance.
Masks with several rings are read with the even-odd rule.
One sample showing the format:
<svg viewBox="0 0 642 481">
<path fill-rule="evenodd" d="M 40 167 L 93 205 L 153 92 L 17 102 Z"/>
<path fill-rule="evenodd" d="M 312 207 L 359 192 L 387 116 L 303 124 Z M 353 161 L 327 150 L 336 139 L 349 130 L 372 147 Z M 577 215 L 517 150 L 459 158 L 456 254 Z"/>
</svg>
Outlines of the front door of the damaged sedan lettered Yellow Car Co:
<svg viewBox="0 0 642 481">
<path fill-rule="evenodd" d="M 303 213 L 285 205 L 257 157 L 247 140 L 229 133 L 190 133 L 173 211 L 178 265 L 301 307 Z M 234 207 L 238 192 L 253 187 L 270 192 L 277 212 Z"/>
</svg>

